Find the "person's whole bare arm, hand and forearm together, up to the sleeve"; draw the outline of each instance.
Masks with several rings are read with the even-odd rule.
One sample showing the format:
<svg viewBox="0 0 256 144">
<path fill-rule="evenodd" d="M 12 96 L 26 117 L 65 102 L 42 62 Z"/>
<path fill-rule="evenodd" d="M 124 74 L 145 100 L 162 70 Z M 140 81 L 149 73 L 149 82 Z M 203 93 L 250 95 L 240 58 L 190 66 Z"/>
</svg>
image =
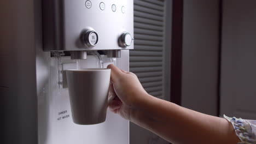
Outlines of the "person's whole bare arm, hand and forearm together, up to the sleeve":
<svg viewBox="0 0 256 144">
<path fill-rule="evenodd" d="M 137 76 L 114 65 L 109 94 L 117 95 L 109 108 L 171 143 L 238 143 L 232 124 L 149 95 Z M 193 97 L 193 95 L 191 95 Z"/>
</svg>

